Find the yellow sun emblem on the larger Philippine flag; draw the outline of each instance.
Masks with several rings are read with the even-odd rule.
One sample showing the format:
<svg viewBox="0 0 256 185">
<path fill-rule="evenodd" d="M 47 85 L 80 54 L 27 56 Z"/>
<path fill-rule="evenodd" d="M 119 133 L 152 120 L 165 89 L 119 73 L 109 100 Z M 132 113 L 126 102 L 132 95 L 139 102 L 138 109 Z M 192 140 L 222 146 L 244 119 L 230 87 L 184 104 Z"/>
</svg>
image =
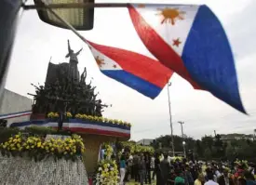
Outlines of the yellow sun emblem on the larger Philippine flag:
<svg viewBox="0 0 256 185">
<path fill-rule="evenodd" d="M 163 17 L 161 24 L 170 22 L 172 25 L 175 24 L 176 20 L 184 20 L 184 11 L 180 11 L 178 8 L 165 7 L 164 9 L 158 9 L 160 12 L 157 15 Z"/>
</svg>

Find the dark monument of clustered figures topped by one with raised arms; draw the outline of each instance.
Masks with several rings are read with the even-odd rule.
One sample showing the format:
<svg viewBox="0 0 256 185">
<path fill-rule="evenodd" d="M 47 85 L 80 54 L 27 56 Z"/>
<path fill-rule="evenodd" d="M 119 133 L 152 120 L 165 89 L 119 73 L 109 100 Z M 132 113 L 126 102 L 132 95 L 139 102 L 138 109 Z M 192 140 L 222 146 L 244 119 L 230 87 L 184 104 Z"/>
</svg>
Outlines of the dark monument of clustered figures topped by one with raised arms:
<svg viewBox="0 0 256 185">
<path fill-rule="evenodd" d="M 87 69 L 79 75 L 77 56 L 82 48 L 74 53 L 68 41 L 69 63 L 53 64 L 49 62 L 45 86 L 35 87 L 33 114 L 47 114 L 47 112 L 71 112 L 102 116 L 103 107 L 99 93 L 95 93 L 96 86 L 86 83 Z"/>
</svg>

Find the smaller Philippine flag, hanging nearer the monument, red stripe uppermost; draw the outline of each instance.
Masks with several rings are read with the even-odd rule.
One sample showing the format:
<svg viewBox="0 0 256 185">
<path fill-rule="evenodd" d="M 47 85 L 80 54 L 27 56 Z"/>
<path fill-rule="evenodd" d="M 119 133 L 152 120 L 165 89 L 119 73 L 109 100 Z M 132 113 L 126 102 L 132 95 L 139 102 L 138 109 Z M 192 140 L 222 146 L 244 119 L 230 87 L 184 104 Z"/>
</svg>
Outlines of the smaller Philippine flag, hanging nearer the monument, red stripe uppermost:
<svg viewBox="0 0 256 185">
<path fill-rule="evenodd" d="M 158 60 L 112 46 L 102 46 L 84 39 L 95 58 L 101 73 L 155 99 L 172 71 Z"/>
</svg>

